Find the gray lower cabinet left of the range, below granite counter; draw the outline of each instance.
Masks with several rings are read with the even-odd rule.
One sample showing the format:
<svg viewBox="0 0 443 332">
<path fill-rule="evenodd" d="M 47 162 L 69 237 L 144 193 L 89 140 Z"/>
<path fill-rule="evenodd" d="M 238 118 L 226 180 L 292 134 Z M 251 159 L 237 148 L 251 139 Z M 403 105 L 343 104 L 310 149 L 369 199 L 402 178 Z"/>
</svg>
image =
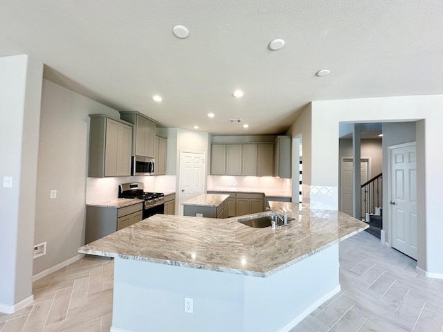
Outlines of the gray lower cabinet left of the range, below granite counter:
<svg viewBox="0 0 443 332">
<path fill-rule="evenodd" d="M 129 225 L 138 223 L 143 218 L 143 203 L 124 208 L 91 206 L 86 209 L 85 243 L 106 237 Z"/>
</svg>

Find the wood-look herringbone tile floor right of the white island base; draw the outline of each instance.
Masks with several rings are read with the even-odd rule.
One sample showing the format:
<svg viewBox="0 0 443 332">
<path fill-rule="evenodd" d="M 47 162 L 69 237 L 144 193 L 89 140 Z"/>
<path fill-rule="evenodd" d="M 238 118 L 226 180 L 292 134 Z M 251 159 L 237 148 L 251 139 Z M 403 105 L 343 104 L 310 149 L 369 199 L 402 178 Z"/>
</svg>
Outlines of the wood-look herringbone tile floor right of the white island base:
<svg viewBox="0 0 443 332">
<path fill-rule="evenodd" d="M 341 292 L 291 332 L 442 332 L 443 280 L 360 232 L 340 243 Z"/>
</svg>

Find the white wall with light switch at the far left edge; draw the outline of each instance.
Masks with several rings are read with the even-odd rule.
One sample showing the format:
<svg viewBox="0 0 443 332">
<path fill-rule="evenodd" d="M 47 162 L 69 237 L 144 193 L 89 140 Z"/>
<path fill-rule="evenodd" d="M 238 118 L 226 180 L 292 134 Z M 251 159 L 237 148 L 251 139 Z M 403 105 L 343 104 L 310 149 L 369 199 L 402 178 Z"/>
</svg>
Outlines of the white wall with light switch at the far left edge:
<svg viewBox="0 0 443 332">
<path fill-rule="evenodd" d="M 32 299 L 35 187 L 43 64 L 27 55 L 0 58 L 0 311 Z"/>
</svg>

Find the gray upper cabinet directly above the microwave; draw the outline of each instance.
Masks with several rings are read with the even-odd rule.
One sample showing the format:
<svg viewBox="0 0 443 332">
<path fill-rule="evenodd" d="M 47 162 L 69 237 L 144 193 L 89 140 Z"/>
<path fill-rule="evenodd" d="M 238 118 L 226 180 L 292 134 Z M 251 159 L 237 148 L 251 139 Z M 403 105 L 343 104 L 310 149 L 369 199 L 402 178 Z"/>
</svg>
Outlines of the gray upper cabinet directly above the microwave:
<svg viewBox="0 0 443 332">
<path fill-rule="evenodd" d="M 120 112 L 123 120 L 135 124 L 132 142 L 132 155 L 155 158 L 156 122 L 134 112 Z"/>
</svg>

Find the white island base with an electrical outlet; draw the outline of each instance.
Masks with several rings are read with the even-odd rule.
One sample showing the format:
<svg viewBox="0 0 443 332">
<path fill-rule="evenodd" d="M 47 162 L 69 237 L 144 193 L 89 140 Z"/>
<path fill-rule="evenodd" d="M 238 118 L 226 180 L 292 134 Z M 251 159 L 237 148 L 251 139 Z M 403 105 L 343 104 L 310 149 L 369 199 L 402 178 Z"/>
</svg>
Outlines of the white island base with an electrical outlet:
<svg viewBox="0 0 443 332">
<path fill-rule="evenodd" d="M 111 332 L 289 331 L 340 291 L 338 243 L 269 277 L 118 257 L 114 271 Z"/>
</svg>

